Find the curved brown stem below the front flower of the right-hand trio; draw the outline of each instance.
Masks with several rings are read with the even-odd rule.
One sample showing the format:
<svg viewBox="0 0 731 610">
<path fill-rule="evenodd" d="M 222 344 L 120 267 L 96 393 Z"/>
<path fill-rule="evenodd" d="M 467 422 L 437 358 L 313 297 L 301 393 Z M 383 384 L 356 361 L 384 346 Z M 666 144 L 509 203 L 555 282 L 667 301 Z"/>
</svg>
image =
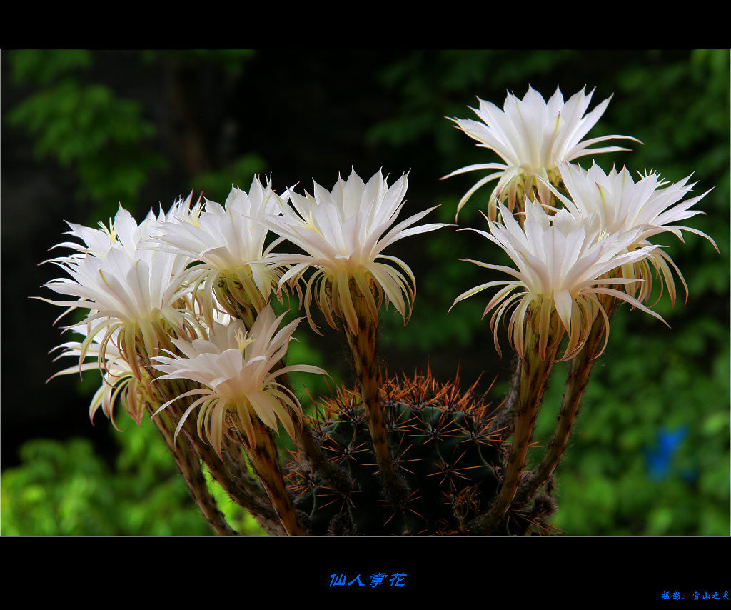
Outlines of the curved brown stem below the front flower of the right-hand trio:
<svg viewBox="0 0 731 610">
<path fill-rule="evenodd" d="M 520 367 L 520 386 L 515 401 L 515 431 L 510 456 L 497 499 L 490 511 L 471 524 L 471 532 L 478 535 L 492 533 L 499 526 L 512 504 L 523 478 L 526 456 L 533 435 L 536 415 L 543 399 L 553 361 L 558 350 L 557 342 L 548 337 L 545 357 L 539 353 L 538 308 L 529 312 L 526 320 L 526 340 L 523 346 L 523 364 Z M 555 317 L 555 316 L 554 316 Z M 555 322 L 555 320 L 553 320 Z M 553 325 L 552 325 L 553 330 Z M 553 332 L 550 332 L 553 334 Z"/>
</svg>

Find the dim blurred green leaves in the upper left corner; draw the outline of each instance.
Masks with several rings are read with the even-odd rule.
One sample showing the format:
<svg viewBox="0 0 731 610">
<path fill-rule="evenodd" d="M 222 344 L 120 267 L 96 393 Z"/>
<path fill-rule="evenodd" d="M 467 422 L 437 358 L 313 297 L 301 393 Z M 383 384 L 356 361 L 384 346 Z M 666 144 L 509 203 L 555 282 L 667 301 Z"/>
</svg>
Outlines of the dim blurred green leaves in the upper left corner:
<svg viewBox="0 0 731 610">
<path fill-rule="evenodd" d="M 92 63 L 87 50 L 15 51 L 15 83 L 35 89 L 7 121 L 34 138 L 37 157 L 75 168 L 78 198 L 113 214 L 120 201 L 134 205 L 150 173 L 168 165 L 146 146 L 156 129 L 140 102 L 122 99 L 104 84 L 83 82 Z"/>
</svg>

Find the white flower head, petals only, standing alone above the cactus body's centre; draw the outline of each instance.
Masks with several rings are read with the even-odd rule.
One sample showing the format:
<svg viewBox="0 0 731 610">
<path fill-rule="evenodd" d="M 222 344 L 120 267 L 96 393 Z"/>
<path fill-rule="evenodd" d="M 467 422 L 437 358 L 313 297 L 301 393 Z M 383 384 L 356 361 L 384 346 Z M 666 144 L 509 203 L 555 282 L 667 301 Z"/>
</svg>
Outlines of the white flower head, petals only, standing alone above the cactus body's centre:
<svg viewBox="0 0 731 610">
<path fill-rule="evenodd" d="M 307 317 L 313 328 L 309 304 L 314 292 L 315 301 L 333 328 L 336 324 L 332 311 L 346 320 L 353 334 L 357 333 L 357 314 L 350 295 L 351 282 L 368 300 L 368 308 L 376 324 L 377 305 L 371 294 L 371 285 L 379 302 L 385 294 L 387 304 L 392 302 L 404 321 L 408 319 L 416 290 L 414 275 L 403 260 L 382 252 L 399 239 L 446 225 L 433 223 L 412 227 L 438 207 L 435 206 L 391 227 L 404 207 L 407 184 L 404 175 L 389 187 L 380 171 L 365 184 L 352 170 L 347 181 L 338 176 L 332 191 L 314 183 L 314 196 L 306 193 L 303 197 L 291 192 L 290 202 L 295 209 L 286 206 L 282 208 L 281 217 L 269 217 L 271 230 L 306 252 L 305 255 L 276 257 L 281 263 L 293 265 L 281 277 L 279 284 L 301 276 L 310 266 L 317 269 L 308 279 L 305 295 Z M 401 269 L 380 260 L 395 263 Z M 404 273 L 409 276 L 411 285 Z"/>
</svg>

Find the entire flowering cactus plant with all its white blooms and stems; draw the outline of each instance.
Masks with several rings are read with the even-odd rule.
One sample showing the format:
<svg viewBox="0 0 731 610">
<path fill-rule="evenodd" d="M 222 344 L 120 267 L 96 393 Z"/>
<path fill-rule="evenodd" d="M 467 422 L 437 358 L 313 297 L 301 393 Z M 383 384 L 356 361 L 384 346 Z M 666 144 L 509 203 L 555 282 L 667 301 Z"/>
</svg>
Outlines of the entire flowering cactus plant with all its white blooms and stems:
<svg viewBox="0 0 731 610">
<path fill-rule="evenodd" d="M 278 195 L 270 178 L 263 185 L 255 176 L 249 192 L 233 188 L 225 206 L 192 205 L 189 196 L 139 226 L 124 208 L 101 229 L 69 223 L 83 244 L 58 244 L 73 252 L 50 262 L 68 276 L 46 284 L 66 296 L 43 300 L 86 317 L 66 329 L 79 340 L 58 347 L 77 366 L 58 374 L 102 370 L 92 416 L 102 407 L 115 423 L 115 404 L 138 424 L 146 413 L 219 535 L 237 532 L 203 483 L 204 467 L 271 535 L 553 533 L 553 477 L 610 317 L 624 302 L 662 320 L 647 304 L 651 268 L 673 301 L 670 267 L 682 275 L 654 241 L 700 233 L 674 223 L 699 214 L 689 208 L 705 196 L 681 202 L 692 186 L 687 178 L 663 189 L 654 173 L 635 183 L 626 169 L 570 165 L 626 150 L 588 147 L 627 136 L 582 140 L 609 102 L 583 116 L 590 98 L 580 91 L 564 104 L 557 90 L 545 102 L 529 89 L 523 100 L 509 95 L 504 112 L 480 100 L 484 124 L 455 119 L 504 161 L 450 174 L 499 170 L 455 212 L 499 178 L 489 232 L 474 230 L 515 268 L 464 258 L 510 277 L 466 290 L 452 305 L 496 289 L 484 315 L 493 312 L 498 352 L 497 326 L 507 321 L 516 355 L 512 388 L 497 404 L 477 393 L 477 383 L 462 390 L 459 374 L 442 382 L 430 370 L 387 374 L 379 315 L 393 304 L 406 324 L 416 278 L 408 261 L 385 251 L 449 225 L 417 225 L 434 208 L 397 222 L 406 175 L 389 186 L 381 172 L 366 182 L 355 170 L 332 190 L 315 183 L 314 195 Z M 265 247 L 268 233 L 274 239 Z M 287 253 L 289 246 L 303 252 Z M 284 323 L 295 294 L 313 331 L 312 301 L 344 336 L 355 376 L 353 385 L 304 404 L 289 373 L 327 372 L 286 361 L 295 330 L 303 332 L 298 320 Z M 534 422 L 559 359 L 571 370 L 556 431 L 527 471 Z M 291 454 L 279 452 L 279 433 L 295 443 Z"/>
</svg>

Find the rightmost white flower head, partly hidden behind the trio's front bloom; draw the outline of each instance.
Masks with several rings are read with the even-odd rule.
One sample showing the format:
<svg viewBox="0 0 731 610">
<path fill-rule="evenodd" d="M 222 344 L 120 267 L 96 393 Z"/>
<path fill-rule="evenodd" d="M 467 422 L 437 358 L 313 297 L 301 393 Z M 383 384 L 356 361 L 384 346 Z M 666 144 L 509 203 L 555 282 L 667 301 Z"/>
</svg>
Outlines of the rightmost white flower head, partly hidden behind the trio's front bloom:
<svg viewBox="0 0 731 610">
<path fill-rule="evenodd" d="M 554 194 L 574 214 L 585 218 L 596 217 L 599 230 L 607 230 L 609 233 L 639 230 L 637 241 L 630 244 L 629 249 L 648 246 L 650 245 L 648 238 L 665 232 L 673 233 L 684 241 L 682 232 L 689 231 L 711 241 L 718 251 L 716 243 L 705 233 L 678 224 L 696 214 L 703 214 L 700 210 L 690 208 L 710 192 L 709 190 L 702 195 L 682 201 L 695 186 L 687 184 L 690 176 L 678 183 L 670 184 L 662 181 L 659 174 L 651 172 L 645 176 L 640 174 L 640 180 L 635 182 L 626 167 L 619 172 L 613 167 L 607 174 L 596 163 L 588 170 L 583 170 L 577 165 L 562 163 L 559 171 L 569 196 L 565 197 L 558 192 Z M 670 186 L 667 186 L 668 184 Z M 647 261 L 659 271 L 661 285 L 664 278 L 670 300 L 675 303 L 675 283 L 670 273 L 672 266 L 683 282 L 687 299 L 688 286 L 670 256 L 658 248 L 648 255 Z M 646 301 L 652 288 L 652 273 L 647 263 L 640 262 L 634 267 L 626 266 L 623 272 L 626 277 L 638 276 L 645 279 L 645 283 L 640 287 L 639 300 Z M 634 291 L 635 286 L 629 289 Z"/>
</svg>

